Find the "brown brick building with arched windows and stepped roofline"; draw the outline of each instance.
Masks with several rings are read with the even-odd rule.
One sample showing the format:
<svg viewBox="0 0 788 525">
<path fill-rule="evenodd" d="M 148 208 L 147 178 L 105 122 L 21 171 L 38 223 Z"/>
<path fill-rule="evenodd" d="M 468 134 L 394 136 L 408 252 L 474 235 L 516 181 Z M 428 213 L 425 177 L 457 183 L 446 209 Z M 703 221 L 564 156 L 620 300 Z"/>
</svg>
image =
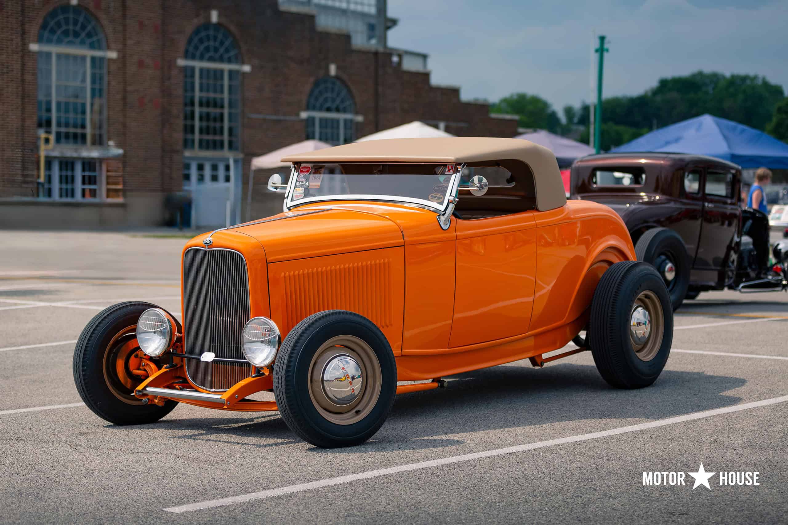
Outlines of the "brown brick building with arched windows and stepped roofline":
<svg viewBox="0 0 788 525">
<path fill-rule="evenodd" d="M 0 17 L 0 227 L 165 224 L 182 190 L 187 221 L 223 225 L 247 216 L 251 158 L 294 142 L 517 131 L 386 46 L 385 0 L 0 0 Z M 266 175 L 253 217 L 278 211 Z"/>
</svg>

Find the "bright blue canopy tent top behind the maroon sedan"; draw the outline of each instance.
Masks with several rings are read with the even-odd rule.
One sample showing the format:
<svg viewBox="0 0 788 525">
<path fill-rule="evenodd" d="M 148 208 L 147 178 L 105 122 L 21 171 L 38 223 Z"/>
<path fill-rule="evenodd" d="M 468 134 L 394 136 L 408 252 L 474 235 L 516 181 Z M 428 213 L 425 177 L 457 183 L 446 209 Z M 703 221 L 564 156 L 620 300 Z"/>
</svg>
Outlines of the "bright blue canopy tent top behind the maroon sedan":
<svg viewBox="0 0 788 525">
<path fill-rule="evenodd" d="M 708 114 L 652 131 L 611 151 L 695 153 L 742 168 L 788 168 L 788 144 L 763 131 Z"/>
</svg>

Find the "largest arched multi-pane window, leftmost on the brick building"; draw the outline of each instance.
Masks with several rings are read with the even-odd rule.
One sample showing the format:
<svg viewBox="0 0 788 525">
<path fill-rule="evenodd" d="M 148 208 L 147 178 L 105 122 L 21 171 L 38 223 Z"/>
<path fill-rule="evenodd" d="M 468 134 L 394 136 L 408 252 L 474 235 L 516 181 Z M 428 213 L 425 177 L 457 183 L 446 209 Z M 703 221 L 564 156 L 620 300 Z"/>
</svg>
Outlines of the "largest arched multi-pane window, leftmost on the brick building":
<svg viewBox="0 0 788 525">
<path fill-rule="evenodd" d="M 106 40 L 99 24 L 79 7 L 56 7 L 41 24 L 39 46 L 39 131 L 55 144 L 103 146 Z"/>
</svg>

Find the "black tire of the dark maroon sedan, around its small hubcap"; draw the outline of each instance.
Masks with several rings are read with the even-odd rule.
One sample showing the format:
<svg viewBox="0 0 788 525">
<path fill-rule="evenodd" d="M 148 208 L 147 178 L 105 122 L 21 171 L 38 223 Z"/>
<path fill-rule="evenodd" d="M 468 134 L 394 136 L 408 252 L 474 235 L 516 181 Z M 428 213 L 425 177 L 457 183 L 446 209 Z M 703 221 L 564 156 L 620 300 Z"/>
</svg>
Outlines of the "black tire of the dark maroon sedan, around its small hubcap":
<svg viewBox="0 0 788 525">
<path fill-rule="evenodd" d="M 645 261 L 656 268 L 671 295 L 673 309 L 678 309 L 689 287 L 690 270 L 689 256 L 682 238 L 673 230 L 663 227 L 652 228 L 637 239 L 635 256 L 637 261 Z M 668 263 L 673 264 L 675 268 L 673 279 L 667 279 L 665 276 L 665 267 Z"/>
</svg>

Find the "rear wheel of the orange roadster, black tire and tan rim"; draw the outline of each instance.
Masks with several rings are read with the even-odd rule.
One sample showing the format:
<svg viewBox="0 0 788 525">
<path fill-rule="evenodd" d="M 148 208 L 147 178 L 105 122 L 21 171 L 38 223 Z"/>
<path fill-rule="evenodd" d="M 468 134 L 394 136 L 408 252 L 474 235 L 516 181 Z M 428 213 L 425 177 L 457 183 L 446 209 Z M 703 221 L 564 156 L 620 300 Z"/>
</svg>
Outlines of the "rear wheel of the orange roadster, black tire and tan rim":
<svg viewBox="0 0 788 525">
<path fill-rule="evenodd" d="M 611 386 L 642 388 L 656 381 L 671 352 L 673 309 L 650 264 L 623 261 L 604 272 L 591 303 L 588 338 L 594 363 Z"/>
</svg>

